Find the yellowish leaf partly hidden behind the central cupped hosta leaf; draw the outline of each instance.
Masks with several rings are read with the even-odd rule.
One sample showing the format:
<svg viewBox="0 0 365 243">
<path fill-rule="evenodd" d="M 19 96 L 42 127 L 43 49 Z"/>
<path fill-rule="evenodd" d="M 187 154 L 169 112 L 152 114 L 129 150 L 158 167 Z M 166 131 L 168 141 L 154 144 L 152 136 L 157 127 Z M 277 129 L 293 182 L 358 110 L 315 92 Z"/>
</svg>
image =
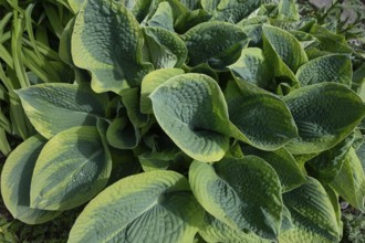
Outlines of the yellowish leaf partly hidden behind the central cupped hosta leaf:
<svg viewBox="0 0 365 243">
<path fill-rule="evenodd" d="M 184 74 L 184 71 L 179 68 L 163 68 L 153 71 L 147 74 L 142 81 L 140 112 L 145 114 L 152 114 L 152 102 L 148 95 L 153 93 L 159 85 L 179 74 Z"/>
</svg>

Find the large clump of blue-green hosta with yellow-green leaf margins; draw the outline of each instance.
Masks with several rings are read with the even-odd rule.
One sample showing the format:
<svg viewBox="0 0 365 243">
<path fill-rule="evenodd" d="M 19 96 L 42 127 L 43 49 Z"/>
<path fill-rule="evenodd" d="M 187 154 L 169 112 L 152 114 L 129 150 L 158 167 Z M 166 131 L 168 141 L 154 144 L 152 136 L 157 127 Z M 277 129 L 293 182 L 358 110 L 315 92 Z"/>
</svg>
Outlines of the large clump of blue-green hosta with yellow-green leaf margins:
<svg viewBox="0 0 365 243">
<path fill-rule="evenodd" d="M 294 1 L 69 0 L 73 84 L 15 91 L 38 135 L 12 215 L 86 204 L 70 242 L 338 242 L 364 211 L 364 65 Z"/>
</svg>

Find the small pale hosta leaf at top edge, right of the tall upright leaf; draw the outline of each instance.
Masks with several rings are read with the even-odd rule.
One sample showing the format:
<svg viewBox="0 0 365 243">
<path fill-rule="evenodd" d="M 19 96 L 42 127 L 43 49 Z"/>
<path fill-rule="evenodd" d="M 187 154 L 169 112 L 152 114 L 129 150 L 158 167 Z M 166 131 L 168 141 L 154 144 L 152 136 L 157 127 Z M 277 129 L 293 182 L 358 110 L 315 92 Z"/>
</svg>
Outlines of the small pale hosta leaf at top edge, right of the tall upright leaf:
<svg viewBox="0 0 365 243">
<path fill-rule="evenodd" d="M 154 15 L 147 21 L 148 27 L 164 28 L 174 31 L 173 9 L 167 1 L 160 2 Z"/>
</svg>

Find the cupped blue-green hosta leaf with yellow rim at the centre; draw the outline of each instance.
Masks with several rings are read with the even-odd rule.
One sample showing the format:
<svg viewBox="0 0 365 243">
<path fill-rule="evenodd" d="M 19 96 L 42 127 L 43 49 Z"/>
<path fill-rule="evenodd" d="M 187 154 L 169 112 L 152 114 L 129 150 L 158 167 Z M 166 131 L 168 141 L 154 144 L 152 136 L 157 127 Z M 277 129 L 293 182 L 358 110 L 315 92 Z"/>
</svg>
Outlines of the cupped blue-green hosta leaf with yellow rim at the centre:
<svg viewBox="0 0 365 243">
<path fill-rule="evenodd" d="M 171 140 L 194 159 L 220 160 L 230 133 L 225 97 L 211 77 L 182 74 L 150 94 L 156 119 Z"/>
</svg>

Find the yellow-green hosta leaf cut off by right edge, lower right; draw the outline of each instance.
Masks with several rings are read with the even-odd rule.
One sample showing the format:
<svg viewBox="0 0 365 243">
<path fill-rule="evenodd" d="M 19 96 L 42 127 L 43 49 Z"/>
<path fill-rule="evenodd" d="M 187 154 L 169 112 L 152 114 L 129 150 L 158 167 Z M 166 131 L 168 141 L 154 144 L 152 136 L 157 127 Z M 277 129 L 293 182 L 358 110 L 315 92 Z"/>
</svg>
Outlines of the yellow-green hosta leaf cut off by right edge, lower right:
<svg viewBox="0 0 365 243">
<path fill-rule="evenodd" d="M 353 148 L 350 148 L 340 173 L 330 186 L 350 204 L 365 212 L 365 173 Z"/>
</svg>

